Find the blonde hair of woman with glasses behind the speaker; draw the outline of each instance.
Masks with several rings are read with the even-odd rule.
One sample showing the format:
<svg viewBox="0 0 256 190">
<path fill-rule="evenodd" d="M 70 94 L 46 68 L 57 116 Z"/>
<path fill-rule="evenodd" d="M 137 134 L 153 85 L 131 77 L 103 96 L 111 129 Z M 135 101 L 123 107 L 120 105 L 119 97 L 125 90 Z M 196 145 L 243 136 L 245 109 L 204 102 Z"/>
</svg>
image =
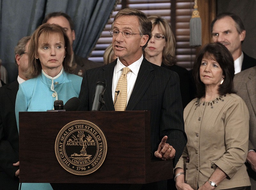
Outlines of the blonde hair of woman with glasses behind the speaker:
<svg viewBox="0 0 256 190">
<path fill-rule="evenodd" d="M 176 41 L 169 23 L 160 16 L 149 16 L 148 19 L 152 22 L 152 29 L 157 25 L 165 36 L 166 44 L 163 49 L 163 64 L 174 65 L 176 62 Z"/>
</svg>

